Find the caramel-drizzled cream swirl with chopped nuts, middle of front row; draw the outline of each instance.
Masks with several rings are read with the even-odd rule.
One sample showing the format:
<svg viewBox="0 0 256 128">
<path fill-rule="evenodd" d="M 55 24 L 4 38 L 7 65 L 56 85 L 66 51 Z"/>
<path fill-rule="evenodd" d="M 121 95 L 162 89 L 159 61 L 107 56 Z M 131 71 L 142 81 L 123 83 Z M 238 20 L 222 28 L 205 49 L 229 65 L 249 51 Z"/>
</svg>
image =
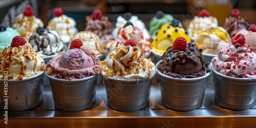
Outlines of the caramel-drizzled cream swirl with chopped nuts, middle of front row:
<svg viewBox="0 0 256 128">
<path fill-rule="evenodd" d="M 138 46 L 119 46 L 108 57 L 101 61 L 102 75 L 105 78 L 151 79 L 155 75 L 155 65 L 151 59 L 145 58 Z"/>
</svg>

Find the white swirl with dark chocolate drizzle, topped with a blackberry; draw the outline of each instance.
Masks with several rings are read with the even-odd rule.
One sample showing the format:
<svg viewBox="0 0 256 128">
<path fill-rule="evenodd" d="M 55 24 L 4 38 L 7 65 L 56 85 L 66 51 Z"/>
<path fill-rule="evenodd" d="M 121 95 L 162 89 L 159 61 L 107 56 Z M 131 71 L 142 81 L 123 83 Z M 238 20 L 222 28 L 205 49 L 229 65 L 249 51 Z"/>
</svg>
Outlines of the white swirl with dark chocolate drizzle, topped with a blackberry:
<svg viewBox="0 0 256 128">
<path fill-rule="evenodd" d="M 59 34 L 54 30 L 37 28 L 39 32 L 35 32 L 30 38 L 29 43 L 32 48 L 41 56 L 52 55 L 65 50 L 65 44 L 59 40 Z"/>
</svg>

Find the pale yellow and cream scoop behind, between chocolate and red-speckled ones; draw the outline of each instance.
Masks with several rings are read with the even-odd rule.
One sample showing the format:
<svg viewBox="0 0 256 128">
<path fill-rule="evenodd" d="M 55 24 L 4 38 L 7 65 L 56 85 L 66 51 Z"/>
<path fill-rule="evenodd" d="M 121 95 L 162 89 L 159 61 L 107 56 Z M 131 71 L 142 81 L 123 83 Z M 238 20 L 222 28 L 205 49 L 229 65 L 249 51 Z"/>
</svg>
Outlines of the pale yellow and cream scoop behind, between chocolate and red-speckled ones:
<svg viewBox="0 0 256 128">
<path fill-rule="evenodd" d="M 196 38 L 198 48 L 203 49 L 203 53 L 218 54 L 218 46 L 222 42 L 230 44 L 230 36 L 222 27 L 211 27 L 204 29 Z"/>
</svg>

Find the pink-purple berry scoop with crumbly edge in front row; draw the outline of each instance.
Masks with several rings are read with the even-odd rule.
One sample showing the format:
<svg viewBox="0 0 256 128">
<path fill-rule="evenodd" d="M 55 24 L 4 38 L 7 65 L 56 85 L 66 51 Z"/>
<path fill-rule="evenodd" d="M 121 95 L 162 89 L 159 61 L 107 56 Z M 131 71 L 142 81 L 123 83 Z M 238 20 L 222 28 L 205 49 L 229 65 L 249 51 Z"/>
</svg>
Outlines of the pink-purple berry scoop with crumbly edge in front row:
<svg viewBox="0 0 256 128">
<path fill-rule="evenodd" d="M 86 46 L 70 49 L 47 63 L 47 74 L 59 79 L 81 79 L 100 73 L 98 57 Z"/>
</svg>

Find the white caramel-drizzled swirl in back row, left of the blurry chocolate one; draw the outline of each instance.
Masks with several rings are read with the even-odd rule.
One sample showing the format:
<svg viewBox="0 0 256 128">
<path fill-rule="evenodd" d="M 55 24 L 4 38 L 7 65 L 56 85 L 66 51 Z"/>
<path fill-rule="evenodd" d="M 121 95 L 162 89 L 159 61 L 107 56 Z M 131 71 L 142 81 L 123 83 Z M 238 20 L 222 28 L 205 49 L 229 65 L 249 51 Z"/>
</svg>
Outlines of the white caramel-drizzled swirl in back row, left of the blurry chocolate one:
<svg viewBox="0 0 256 128">
<path fill-rule="evenodd" d="M 74 34 L 78 32 L 76 21 L 65 14 L 49 20 L 46 28 L 57 31 L 59 33 L 59 39 L 66 43 L 70 42 Z"/>
</svg>

